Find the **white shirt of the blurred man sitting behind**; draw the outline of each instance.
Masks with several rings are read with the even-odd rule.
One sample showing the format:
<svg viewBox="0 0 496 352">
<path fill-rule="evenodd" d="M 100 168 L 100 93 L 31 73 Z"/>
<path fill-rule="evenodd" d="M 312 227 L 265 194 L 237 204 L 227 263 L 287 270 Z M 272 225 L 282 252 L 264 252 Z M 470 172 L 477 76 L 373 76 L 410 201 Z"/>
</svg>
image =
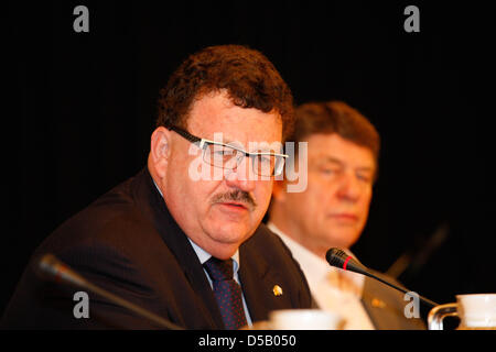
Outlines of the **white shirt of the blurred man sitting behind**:
<svg viewBox="0 0 496 352">
<path fill-rule="evenodd" d="M 330 266 L 324 258 L 282 233 L 273 223 L 269 222 L 268 227 L 281 238 L 300 263 L 320 308 L 341 315 L 345 330 L 374 330 L 360 300 L 365 279 L 363 275 Z"/>
</svg>

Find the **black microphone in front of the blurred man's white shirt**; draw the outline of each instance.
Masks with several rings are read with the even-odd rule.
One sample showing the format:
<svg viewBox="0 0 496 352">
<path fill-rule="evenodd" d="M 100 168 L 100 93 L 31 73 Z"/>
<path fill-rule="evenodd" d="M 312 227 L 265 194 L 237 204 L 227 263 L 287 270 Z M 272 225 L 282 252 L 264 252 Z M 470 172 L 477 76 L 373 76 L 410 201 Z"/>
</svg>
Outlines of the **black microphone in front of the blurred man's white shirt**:
<svg viewBox="0 0 496 352">
<path fill-rule="evenodd" d="M 353 258 L 352 255 L 347 254 L 345 251 L 341 250 L 341 249 L 331 249 L 327 251 L 327 253 L 325 254 L 325 258 L 327 260 L 327 263 L 332 266 L 342 268 L 344 271 L 349 271 L 349 272 L 355 272 L 355 273 L 359 273 L 363 275 L 367 275 L 371 278 L 375 278 L 379 282 L 381 282 L 382 284 L 386 284 L 392 288 L 398 289 L 399 292 L 402 292 L 403 294 L 408 294 L 409 292 L 406 290 L 405 288 L 401 288 L 392 283 L 389 283 L 388 280 L 374 275 L 370 270 L 368 270 L 365 265 L 363 265 L 362 263 L 357 262 L 356 260 Z M 430 307 L 435 307 L 439 306 L 436 302 L 422 297 L 419 295 L 420 300 L 422 300 L 422 302 L 424 302 L 425 305 L 430 306 Z"/>
</svg>

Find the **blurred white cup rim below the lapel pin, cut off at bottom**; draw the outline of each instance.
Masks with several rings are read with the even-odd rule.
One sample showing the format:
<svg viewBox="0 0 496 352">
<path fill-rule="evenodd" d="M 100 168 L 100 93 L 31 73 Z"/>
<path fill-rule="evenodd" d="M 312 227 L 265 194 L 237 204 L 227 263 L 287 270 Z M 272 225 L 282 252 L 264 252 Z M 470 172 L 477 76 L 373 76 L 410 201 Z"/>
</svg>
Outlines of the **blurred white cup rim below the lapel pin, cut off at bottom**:
<svg viewBox="0 0 496 352">
<path fill-rule="evenodd" d="M 321 309 L 281 309 L 269 315 L 273 330 L 337 330 L 342 317 Z"/>
</svg>

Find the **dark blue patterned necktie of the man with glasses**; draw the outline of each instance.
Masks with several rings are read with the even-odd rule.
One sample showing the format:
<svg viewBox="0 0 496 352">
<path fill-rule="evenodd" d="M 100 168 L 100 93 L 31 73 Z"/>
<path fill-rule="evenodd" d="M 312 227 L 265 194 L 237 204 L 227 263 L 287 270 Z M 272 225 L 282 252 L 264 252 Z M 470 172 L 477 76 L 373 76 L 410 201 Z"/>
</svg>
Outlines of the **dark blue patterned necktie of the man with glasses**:
<svg viewBox="0 0 496 352">
<path fill-rule="evenodd" d="M 214 286 L 224 326 L 227 330 L 239 329 L 247 324 L 242 308 L 241 287 L 233 278 L 233 260 L 218 260 L 212 256 L 204 264 Z"/>
</svg>

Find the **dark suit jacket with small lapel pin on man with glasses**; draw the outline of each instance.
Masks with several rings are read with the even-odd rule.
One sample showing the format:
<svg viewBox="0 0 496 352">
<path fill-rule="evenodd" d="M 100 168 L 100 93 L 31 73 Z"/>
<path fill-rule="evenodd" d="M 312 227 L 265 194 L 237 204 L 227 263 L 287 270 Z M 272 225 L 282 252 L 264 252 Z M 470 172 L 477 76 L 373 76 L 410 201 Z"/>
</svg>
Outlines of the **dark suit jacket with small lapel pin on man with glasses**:
<svg viewBox="0 0 496 352">
<path fill-rule="evenodd" d="M 223 329 L 203 267 L 148 169 L 67 220 L 35 251 L 2 318 L 13 329 L 155 329 L 89 295 L 89 319 L 73 315 L 78 288 L 39 279 L 36 258 L 53 253 L 95 285 L 186 329 Z M 239 279 L 251 320 L 274 309 L 310 308 L 309 286 L 282 241 L 261 224 L 239 249 Z M 282 288 L 276 296 L 274 285 Z"/>
</svg>

